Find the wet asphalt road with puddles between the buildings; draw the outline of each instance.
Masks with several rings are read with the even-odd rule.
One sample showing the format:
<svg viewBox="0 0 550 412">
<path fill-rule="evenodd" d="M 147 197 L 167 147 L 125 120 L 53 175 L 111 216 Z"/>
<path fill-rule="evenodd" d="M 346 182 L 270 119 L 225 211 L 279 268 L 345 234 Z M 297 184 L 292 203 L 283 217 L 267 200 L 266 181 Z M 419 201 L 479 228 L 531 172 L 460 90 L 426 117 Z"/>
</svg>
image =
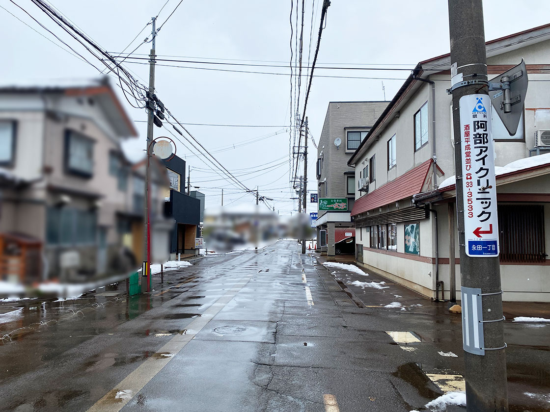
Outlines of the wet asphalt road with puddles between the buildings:
<svg viewBox="0 0 550 412">
<path fill-rule="evenodd" d="M 279 241 L 196 260 L 144 296 L 113 285 L 25 303 L 0 316 L 0 410 L 314 412 L 327 394 L 342 412 L 422 410 L 443 393 L 428 375 L 463 372 L 460 317 L 355 280 L 384 279 Z M 511 410 L 549 410 L 550 325 L 505 330 Z"/>
</svg>

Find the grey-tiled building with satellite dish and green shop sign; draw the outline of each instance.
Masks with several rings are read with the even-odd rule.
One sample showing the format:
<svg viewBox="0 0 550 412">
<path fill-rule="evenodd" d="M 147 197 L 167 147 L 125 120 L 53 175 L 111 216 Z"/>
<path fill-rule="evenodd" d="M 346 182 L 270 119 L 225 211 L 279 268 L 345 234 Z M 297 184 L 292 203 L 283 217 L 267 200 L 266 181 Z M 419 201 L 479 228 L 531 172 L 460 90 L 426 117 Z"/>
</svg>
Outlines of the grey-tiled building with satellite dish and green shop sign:
<svg viewBox="0 0 550 412">
<path fill-rule="evenodd" d="M 315 221 L 318 247 L 328 256 L 345 250 L 337 243 L 355 234 L 350 211 L 355 199 L 356 179 L 354 169 L 346 163 L 387 105 L 388 102 L 375 101 L 328 104 L 317 149 L 318 211 Z"/>
</svg>

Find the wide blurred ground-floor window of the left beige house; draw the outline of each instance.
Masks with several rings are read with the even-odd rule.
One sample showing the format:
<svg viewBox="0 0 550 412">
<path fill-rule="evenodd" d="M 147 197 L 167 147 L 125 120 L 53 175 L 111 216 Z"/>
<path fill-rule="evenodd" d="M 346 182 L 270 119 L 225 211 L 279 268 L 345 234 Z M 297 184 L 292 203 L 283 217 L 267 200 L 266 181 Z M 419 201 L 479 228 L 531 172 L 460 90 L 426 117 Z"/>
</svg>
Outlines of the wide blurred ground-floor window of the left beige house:
<svg viewBox="0 0 550 412">
<path fill-rule="evenodd" d="M 97 216 L 94 210 L 49 207 L 46 238 L 50 244 L 74 246 L 96 243 Z"/>
</svg>

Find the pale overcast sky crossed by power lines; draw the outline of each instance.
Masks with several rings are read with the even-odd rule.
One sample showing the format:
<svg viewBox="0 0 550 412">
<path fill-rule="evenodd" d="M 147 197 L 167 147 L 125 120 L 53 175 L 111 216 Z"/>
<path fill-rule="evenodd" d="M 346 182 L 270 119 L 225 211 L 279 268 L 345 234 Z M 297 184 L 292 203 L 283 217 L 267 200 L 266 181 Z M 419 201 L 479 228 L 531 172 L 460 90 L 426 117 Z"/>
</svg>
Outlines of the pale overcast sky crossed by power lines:
<svg viewBox="0 0 550 412">
<path fill-rule="evenodd" d="M 30 0 L 14 0 L 31 15 L 54 31 L 60 38 L 88 57 L 83 48 L 54 27 L 53 21 Z M 166 0 L 50 0 L 65 16 L 109 52 L 121 52 L 138 35 L 152 16 L 158 14 Z M 169 0 L 158 14 L 162 24 L 179 0 Z M 296 2 L 294 2 L 296 3 Z M 299 1 L 301 7 L 301 1 Z M 512 34 L 548 23 L 548 0 L 485 0 L 486 40 Z M 274 198 L 276 210 L 290 214 L 296 204 L 289 200 L 289 125 L 290 125 L 290 4 L 288 0 L 192 1 L 183 3 L 158 33 L 156 52 L 163 55 L 225 63 L 284 65 L 284 68 L 194 65 L 202 68 L 268 71 L 287 75 L 230 73 L 204 69 L 157 66 L 158 97 L 184 123 L 273 125 L 279 127 L 189 126 L 188 130 L 215 157 L 250 189 L 259 186 L 260 195 Z M 313 16 L 311 61 L 315 51 L 322 0 L 305 3 L 303 60 L 310 51 L 310 22 Z M 8 1 L 2 7 L 35 30 L 59 41 L 43 30 L 21 9 Z M 295 7 L 294 7 L 295 10 Z M 100 74 L 90 65 L 63 51 L 0 9 L 2 17 L 2 83 L 47 79 L 90 79 Z M 293 14 L 295 25 L 295 14 Z M 158 27 L 158 25 L 157 25 Z M 138 36 L 128 51 L 147 35 L 151 26 Z M 147 34 L 149 32 L 149 34 Z M 294 47 L 294 46 L 293 46 Z M 149 53 L 150 44 L 142 44 L 136 53 Z M 328 8 L 317 65 L 341 65 L 370 68 L 411 68 L 421 60 L 449 52 L 447 1 L 332 0 Z M 295 53 L 295 50 L 294 50 Z M 91 60 L 92 58 L 90 58 Z M 216 59 L 216 60 L 213 60 Z M 246 60 L 240 62 L 238 60 Z M 265 60 L 266 62 L 260 62 Z M 127 60 L 128 62 L 129 60 Z M 100 62 L 93 61 L 98 67 Z M 146 60 L 138 60 L 140 63 Z M 159 62 L 162 63 L 162 62 Z M 519 62 L 510 62 L 519 63 Z M 191 66 L 185 63 L 166 63 Z M 367 65 L 371 64 L 371 65 Z M 149 69 L 145 64 L 130 64 L 138 79 L 146 84 Z M 386 99 L 390 100 L 409 71 L 406 70 L 322 70 L 316 75 L 383 77 Z M 300 113 L 306 90 L 306 77 L 301 84 Z M 119 93 L 120 95 L 120 93 Z M 136 120 L 139 140 L 127 144 L 134 158 L 144 146 L 146 120 L 144 110 L 133 109 L 122 98 L 131 118 Z M 306 115 L 313 138 L 318 141 L 324 115 L 330 101 L 383 100 L 380 79 L 334 79 L 314 77 Z M 169 134 L 155 130 L 155 136 Z M 277 133 L 277 134 L 276 134 Z M 264 137 L 259 139 L 260 137 Z M 250 143 L 249 141 L 257 141 Z M 239 143 L 250 143 L 239 146 Z M 235 148 L 232 145 L 235 144 Z M 310 142 L 311 146 L 311 142 Z M 219 150 L 222 149 L 220 152 Z M 218 152 L 217 152 L 218 151 Z M 315 149 L 310 147 L 309 188 L 315 190 Z M 178 142 L 177 153 L 191 166 L 191 184 L 206 193 L 206 206 L 219 205 L 221 188 L 224 204 L 254 202 L 225 179 L 210 170 L 202 158 L 194 157 Z M 286 160 L 286 162 L 285 162 Z M 280 165 L 279 165 L 280 164 Z M 266 169 L 270 166 L 276 166 Z M 240 170 L 239 170 L 240 169 Z M 245 170 L 243 170 L 245 169 Z M 265 169 L 265 170 L 260 170 Z M 259 170 L 255 174 L 251 171 Z M 215 180 L 216 179 L 216 180 Z M 294 195 L 295 196 L 295 195 Z M 309 206 L 308 206 L 309 208 Z M 315 210 L 316 208 L 311 208 Z"/>
</svg>

